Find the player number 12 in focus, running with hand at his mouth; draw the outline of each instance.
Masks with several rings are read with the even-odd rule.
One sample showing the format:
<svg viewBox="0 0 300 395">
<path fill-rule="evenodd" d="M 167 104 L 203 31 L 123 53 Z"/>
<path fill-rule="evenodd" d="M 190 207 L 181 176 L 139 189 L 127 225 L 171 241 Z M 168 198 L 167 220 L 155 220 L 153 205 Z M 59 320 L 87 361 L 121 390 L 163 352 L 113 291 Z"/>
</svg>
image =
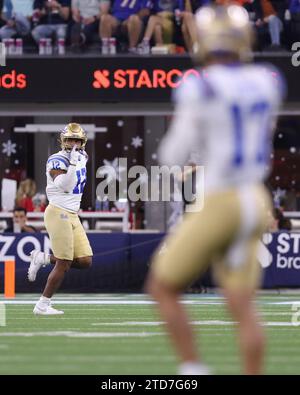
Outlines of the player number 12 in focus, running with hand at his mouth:
<svg viewBox="0 0 300 395">
<path fill-rule="evenodd" d="M 62 150 L 51 155 L 46 165 L 49 205 L 44 220 L 53 255 L 33 250 L 28 269 L 29 281 L 35 281 L 42 266 L 55 265 L 34 307 L 33 312 L 38 315 L 63 314 L 51 306 L 53 294 L 70 268 L 87 269 L 92 263 L 93 252 L 78 217 L 86 183 L 86 132 L 79 124 L 70 123 L 60 134 L 60 142 Z"/>
</svg>

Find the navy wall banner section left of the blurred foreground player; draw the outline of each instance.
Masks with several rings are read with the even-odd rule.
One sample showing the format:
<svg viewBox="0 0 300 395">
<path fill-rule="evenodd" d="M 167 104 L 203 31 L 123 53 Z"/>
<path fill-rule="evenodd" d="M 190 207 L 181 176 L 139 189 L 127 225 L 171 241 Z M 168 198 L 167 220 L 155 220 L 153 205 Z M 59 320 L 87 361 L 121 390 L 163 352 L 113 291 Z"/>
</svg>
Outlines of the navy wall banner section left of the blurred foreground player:
<svg viewBox="0 0 300 395">
<path fill-rule="evenodd" d="M 65 292 L 141 292 L 151 253 L 161 234 L 129 233 L 88 234 L 94 257 L 88 270 L 70 270 L 61 290 Z M 145 254 L 142 253 L 144 248 Z M 29 254 L 32 249 L 50 250 L 48 235 L 42 233 L 0 234 L 0 295 L 4 291 L 4 262 L 16 262 L 16 293 L 42 292 L 52 265 L 38 273 L 35 282 L 27 280 Z M 138 251 L 132 257 L 131 252 Z"/>
</svg>

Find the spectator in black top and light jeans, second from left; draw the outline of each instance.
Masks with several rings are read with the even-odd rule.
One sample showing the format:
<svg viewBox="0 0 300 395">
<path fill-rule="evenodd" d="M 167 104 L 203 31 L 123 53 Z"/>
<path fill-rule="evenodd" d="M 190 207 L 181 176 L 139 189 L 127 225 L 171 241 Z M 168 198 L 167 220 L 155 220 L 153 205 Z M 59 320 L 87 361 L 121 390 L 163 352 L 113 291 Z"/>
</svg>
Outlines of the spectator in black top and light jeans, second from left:
<svg viewBox="0 0 300 395">
<path fill-rule="evenodd" d="M 66 38 L 70 17 L 71 0 L 35 0 L 34 15 L 38 25 L 32 30 L 32 37 L 39 43 L 41 38 Z"/>
</svg>

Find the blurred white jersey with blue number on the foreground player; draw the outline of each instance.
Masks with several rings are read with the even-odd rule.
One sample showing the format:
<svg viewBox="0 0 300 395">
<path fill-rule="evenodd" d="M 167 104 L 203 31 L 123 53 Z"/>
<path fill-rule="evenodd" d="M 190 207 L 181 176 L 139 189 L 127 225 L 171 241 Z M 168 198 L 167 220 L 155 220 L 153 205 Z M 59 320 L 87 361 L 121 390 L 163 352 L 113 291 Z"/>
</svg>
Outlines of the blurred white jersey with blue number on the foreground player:
<svg viewBox="0 0 300 395">
<path fill-rule="evenodd" d="M 284 84 L 269 66 L 212 65 L 175 92 L 175 113 L 159 148 L 161 163 L 197 153 L 205 192 L 262 181 L 269 171 Z M 199 163 L 200 162 L 200 163 Z"/>
</svg>

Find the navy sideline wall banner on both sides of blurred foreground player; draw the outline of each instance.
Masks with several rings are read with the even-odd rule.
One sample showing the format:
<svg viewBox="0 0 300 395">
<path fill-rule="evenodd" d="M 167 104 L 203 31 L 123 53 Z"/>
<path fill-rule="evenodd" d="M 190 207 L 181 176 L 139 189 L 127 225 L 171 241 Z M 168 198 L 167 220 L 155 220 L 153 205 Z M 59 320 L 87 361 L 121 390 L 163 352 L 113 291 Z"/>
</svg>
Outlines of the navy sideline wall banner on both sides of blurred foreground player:
<svg viewBox="0 0 300 395">
<path fill-rule="evenodd" d="M 89 270 L 71 270 L 62 291 L 142 291 L 149 262 L 164 234 L 88 234 L 94 258 Z M 34 283 L 27 280 L 29 253 L 49 253 L 46 234 L 0 235 L 0 294 L 4 289 L 4 265 L 16 262 L 16 292 L 40 292 L 51 265 L 42 269 Z M 300 233 L 267 233 L 260 243 L 258 261 L 264 269 L 264 288 L 300 287 Z"/>
</svg>

